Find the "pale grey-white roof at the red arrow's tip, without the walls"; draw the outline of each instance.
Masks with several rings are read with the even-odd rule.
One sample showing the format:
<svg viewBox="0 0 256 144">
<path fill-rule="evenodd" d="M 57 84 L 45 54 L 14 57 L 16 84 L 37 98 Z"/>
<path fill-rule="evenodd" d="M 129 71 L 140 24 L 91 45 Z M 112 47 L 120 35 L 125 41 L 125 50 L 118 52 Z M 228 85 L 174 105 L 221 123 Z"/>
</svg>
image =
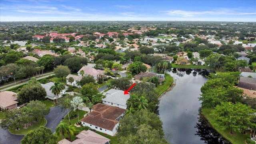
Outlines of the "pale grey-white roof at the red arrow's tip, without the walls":
<svg viewBox="0 0 256 144">
<path fill-rule="evenodd" d="M 130 94 L 124 94 L 123 90 L 110 89 L 106 92 L 106 98 L 102 99 L 102 101 L 126 106 L 126 101 L 129 98 Z"/>
</svg>

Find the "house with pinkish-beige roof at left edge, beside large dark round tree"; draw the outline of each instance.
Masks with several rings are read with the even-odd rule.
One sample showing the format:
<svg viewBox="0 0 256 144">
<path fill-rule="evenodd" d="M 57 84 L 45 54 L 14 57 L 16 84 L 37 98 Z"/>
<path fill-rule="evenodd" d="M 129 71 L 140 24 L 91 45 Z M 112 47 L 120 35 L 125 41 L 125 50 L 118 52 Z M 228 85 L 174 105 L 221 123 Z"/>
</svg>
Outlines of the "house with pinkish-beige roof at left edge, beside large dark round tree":
<svg viewBox="0 0 256 144">
<path fill-rule="evenodd" d="M 0 108 L 7 108 L 8 110 L 11 110 L 12 108 L 15 108 L 18 104 L 18 98 L 17 94 L 15 92 L 11 91 L 3 91 L 0 92 Z"/>
</svg>

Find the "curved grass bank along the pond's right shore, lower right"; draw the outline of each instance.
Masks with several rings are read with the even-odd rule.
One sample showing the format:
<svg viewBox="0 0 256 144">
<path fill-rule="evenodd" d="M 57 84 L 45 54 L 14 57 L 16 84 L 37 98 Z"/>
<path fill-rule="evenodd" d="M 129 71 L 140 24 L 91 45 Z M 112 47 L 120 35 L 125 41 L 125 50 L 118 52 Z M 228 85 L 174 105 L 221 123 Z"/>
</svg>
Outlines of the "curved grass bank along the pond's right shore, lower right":
<svg viewBox="0 0 256 144">
<path fill-rule="evenodd" d="M 202 114 L 206 117 L 206 119 L 210 122 L 212 127 L 217 130 L 224 138 L 229 140 L 232 144 L 245 144 L 247 138 L 250 138 L 250 132 L 246 131 L 246 134 L 230 134 L 231 129 L 228 130 L 220 130 L 217 126 L 215 126 L 216 121 L 214 120 L 213 116 L 210 116 L 210 112 L 212 109 L 210 108 L 202 108 Z"/>
</svg>

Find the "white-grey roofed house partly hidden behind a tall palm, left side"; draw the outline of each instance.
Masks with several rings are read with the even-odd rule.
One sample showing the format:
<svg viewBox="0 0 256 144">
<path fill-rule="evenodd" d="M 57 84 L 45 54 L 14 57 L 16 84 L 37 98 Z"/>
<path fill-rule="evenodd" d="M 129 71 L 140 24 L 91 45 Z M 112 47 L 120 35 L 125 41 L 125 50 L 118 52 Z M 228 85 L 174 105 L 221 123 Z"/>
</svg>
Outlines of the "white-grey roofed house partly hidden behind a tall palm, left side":
<svg viewBox="0 0 256 144">
<path fill-rule="evenodd" d="M 51 86 L 54 86 L 53 82 L 48 82 L 46 84 L 41 84 L 41 86 L 45 89 L 46 91 L 46 98 L 49 98 L 50 100 L 56 100 L 56 95 L 52 93 L 52 90 L 50 90 Z M 68 86 L 65 86 L 65 89 L 58 94 L 58 98 L 62 97 L 62 94 L 64 94 L 67 90 Z"/>
</svg>

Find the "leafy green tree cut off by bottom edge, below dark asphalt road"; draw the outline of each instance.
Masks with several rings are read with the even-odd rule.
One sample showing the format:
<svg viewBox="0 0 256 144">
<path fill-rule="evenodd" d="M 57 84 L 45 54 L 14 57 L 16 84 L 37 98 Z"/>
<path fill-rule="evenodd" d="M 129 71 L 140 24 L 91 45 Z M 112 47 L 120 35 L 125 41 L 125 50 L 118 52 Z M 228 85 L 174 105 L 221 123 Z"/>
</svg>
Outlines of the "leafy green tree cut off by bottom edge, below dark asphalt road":
<svg viewBox="0 0 256 144">
<path fill-rule="evenodd" d="M 44 126 L 30 130 L 21 140 L 21 144 L 56 144 L 57 138 L 53 136 L 52 130 Z"/>
</svg>

